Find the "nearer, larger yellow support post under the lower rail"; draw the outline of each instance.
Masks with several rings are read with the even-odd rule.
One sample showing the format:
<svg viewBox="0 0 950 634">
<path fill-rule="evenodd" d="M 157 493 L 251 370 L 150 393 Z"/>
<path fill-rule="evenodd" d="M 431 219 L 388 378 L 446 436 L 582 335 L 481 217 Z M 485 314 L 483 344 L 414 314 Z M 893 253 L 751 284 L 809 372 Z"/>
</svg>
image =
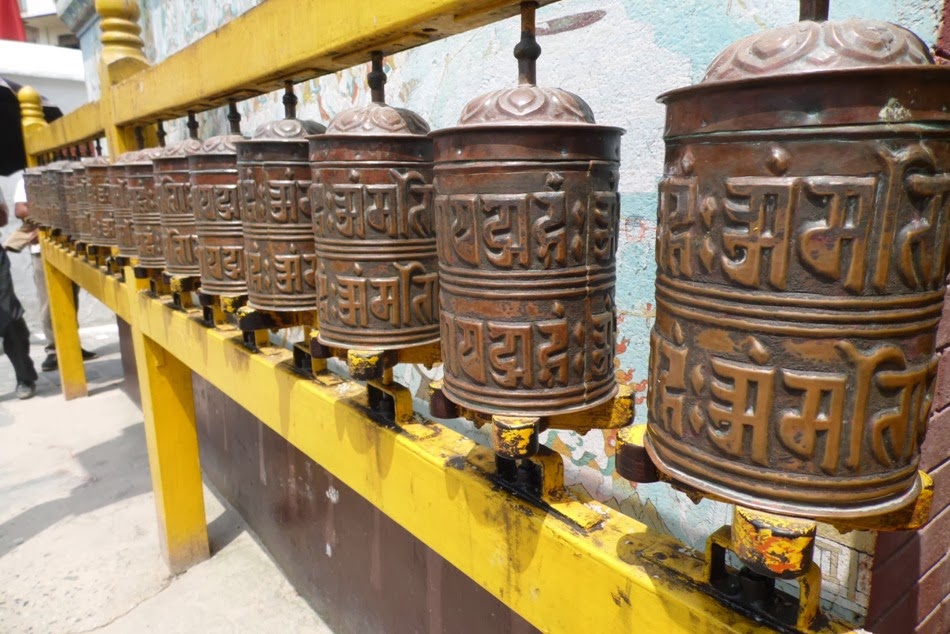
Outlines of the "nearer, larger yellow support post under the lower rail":
<svg viewBox="0 0 950 634">
<path fill-rule="evenodd" d="M 173 574 L 210 556 L 191 370 L 132 324 L 162 554 Z"/>
</svg>

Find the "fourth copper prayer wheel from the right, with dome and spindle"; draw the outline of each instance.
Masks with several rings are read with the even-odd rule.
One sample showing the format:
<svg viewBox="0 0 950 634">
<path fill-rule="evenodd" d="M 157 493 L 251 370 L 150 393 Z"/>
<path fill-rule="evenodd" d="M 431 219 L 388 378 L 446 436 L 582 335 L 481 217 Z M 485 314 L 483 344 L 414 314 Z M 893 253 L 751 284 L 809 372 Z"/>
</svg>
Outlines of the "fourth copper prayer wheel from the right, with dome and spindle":
<svg viewBox="0 0 950 634">
<path fill-rule="evenodd" d="M 297 119 L 296 103 L 288 82 L 286 118 L 237 143 L 248 305 L 257 310 L 313 311 L 317 305 L 307 136 L 325 128 Z"/>
</svg>

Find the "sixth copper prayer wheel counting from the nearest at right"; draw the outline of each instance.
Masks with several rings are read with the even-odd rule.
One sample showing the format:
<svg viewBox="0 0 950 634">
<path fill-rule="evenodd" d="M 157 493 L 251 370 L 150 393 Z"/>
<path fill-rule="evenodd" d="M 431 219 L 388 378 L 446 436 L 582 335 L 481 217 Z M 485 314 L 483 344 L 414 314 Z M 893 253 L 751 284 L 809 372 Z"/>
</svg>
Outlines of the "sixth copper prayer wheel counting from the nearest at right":
<svg viewBox="0 0 950 634">
<path fill-rule="evenodd" d="M 155 196 L 162 223 L 162 250 L 168 275 L 198 277 L 198 229 L 191 207 L 188 155 L 201 148 L 197 139 L 167 146 L 152 160 Z"/>
</svg>

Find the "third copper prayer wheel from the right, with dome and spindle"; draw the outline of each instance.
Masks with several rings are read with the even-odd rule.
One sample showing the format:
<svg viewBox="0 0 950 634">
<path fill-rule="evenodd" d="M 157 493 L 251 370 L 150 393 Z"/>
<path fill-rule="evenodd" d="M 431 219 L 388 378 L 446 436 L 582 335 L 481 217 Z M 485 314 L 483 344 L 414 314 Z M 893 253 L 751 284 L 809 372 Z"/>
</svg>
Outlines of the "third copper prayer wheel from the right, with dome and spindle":
<svg viewBox="0 0 950 634">
<path fill-rule="evenodd" d="M 320 343 L 398 349 L 439 339 L 432 141 L 419 115 L 387 106 L 382 54 L 372 103 L 310 139 Z"/>
</svg>

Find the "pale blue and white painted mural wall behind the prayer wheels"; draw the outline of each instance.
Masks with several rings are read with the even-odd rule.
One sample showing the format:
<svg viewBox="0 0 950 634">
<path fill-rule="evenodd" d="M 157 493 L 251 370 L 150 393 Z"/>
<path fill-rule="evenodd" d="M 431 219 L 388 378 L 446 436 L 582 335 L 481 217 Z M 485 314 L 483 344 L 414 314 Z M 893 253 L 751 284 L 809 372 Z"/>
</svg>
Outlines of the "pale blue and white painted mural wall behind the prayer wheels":
<svg viewBox="0 0 950 634">
<path fill-rule="evenodd" d="M 146 53 L 153 61 L 164 59 L 256 4 L 143 0 Z M 939 0 L 838 0 L 832 3 L 832 19 L 854 15 L 893 21 L 934 42 L 941 5 Z M 698 81 L 729 42 L 797 18 L 798 3 L 790 0 L 562 0 L 538 12 L 538 83 L 582 96 L 598 123 L 626 129 L 619 185 L 616 375 L 636 391 L 638 422 L 646 421 L 656 188 L 664 154 L 665 113 L 656 96 Z M 469 99 L 514 84 L 517 65 L 511 52 L 518 36 L 512 19 L 388 57 L 388 101 L 415 110 L 433 129 L 454 125 Z M 326 123 L 338 112 L 368 102 L 367 71 L 364 65 L 298 85 L 298 116 Z M 282 116 L 280 100 L 280 93 L 271 93 L 243 102 L 245 134 Z M 202 136 L 227 129 L 223 110 L 203 113 L 199 122 Z M 170 141 L 185 136 L 181 121 L 166 129 Z M 421 398 L 438 370 L 411 367 L 402 374 Z M 449 424 L 487 442 L 466 422 Z M 726 505 L 695 504 L 666 485 L 636 486 L 616 476 L 616 432 L 580 436 L 551 431 L 543 441 L 565 456 L 571 486 L 687 544 L 702 548 L 706 537 L 729 521 Z M 859 624 L 868 600 L 873 539 L 822 530 L 817 561 L 825 577 L 825 607 Z"/>
</svg>

